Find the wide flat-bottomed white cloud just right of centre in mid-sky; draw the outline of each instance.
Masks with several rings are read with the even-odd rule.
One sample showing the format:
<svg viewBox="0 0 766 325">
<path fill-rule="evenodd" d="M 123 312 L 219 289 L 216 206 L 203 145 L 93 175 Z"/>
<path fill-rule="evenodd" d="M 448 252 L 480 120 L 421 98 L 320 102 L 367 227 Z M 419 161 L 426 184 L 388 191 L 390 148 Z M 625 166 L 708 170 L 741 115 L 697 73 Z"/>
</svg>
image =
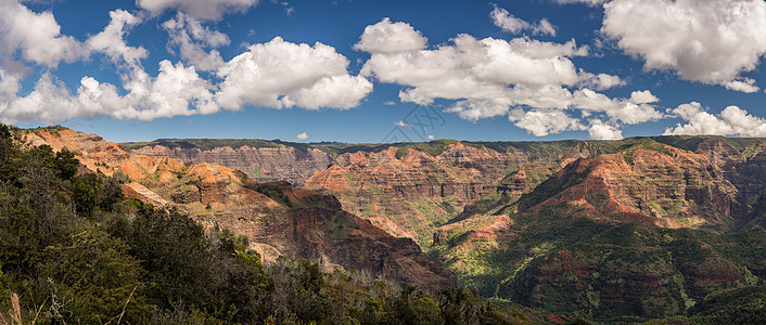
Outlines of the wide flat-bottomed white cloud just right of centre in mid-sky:
<svg viewBox="0 0 766 325">
<path fill-rule="evenodd" d="M 508 91 L 509 84 L 575 86 L 590 81 L 591 75 L 579 74 L 566 58 L 587 53 L 574 41 L 557 44 L 527 38 L 477 40 L 459 35 L 452 42 L 435 50 L 373 53 L 361 74 L 383 82 L 411 86 L 400 99 L 418 104 L 429 104 L 434 98 L 499 95 Z"/>
</svg>

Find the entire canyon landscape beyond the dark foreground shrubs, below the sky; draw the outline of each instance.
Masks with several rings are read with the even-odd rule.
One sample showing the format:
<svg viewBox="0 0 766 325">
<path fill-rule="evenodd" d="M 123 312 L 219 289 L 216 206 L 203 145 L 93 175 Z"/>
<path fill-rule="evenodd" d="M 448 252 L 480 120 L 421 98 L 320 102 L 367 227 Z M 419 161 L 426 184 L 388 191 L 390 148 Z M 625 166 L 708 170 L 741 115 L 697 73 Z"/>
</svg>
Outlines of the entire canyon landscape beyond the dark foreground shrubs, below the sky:
<svg viewBox="0 0 766 325">
<path fill-rule="evenodd" d="M 108 180 L 154 211 L 244 238 L 266 270 L 288 258 L 431 292 L 465 288 L 510 323 L 723 320 L 739 310 L 725 297 L 758 306 L 766 280 L 761 139 L 117 144 L 16 132 L 29 151 L 79 161 L 59 186 Z M 77 193 L 76 212 L 93 213 Z"/>
</svg>

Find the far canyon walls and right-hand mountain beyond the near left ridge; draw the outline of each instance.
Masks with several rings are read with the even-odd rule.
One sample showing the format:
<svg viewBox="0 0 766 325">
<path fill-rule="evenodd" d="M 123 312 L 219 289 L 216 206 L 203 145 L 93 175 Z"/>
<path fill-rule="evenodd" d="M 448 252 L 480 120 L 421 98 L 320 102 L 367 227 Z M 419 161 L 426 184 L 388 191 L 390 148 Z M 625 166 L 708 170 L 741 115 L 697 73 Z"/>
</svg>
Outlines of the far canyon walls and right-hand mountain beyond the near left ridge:
<svg viewBox="0 0 766 325">
<path fill-rule="evenodd" d="M 631 322 L 766 278 L 764 139 L 279 145 L 329 161 L 296 183 L 416 239 L 499 301 Z"/>
</svg>

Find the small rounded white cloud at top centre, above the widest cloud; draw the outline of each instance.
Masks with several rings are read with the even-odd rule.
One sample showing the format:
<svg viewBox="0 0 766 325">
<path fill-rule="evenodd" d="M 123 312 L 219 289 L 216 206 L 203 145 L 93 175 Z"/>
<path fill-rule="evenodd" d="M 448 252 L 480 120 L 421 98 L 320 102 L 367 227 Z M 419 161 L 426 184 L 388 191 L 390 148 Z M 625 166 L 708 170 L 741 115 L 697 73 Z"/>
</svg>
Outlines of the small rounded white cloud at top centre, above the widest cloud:
<svg viewBox="0 0 766 325">
<path fill-rule="evenodd" d="M 368 53 L 397 53 L 425 49 L 427 40 L 407 23 L 383 18 L 365 27 L 354 49 Z"/>
</svg>

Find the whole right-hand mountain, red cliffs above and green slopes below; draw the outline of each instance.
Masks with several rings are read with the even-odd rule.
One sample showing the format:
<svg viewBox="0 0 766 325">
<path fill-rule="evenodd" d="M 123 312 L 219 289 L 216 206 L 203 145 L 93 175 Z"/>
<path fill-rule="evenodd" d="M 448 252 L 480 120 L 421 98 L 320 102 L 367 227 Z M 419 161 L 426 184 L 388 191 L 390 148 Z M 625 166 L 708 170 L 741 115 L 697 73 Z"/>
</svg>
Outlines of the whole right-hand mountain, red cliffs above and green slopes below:
<svg viewBox="0 0 766 325">
<path fill-rule="evenodd" d="M 684 314 L 766 278 L 766 232 L 750 230 L 763 225 L 762 143 L 604 143 L 515 200 L 474 202 L 438 229 L 435 250 L 485 296 L 601 321 Z M 524 187 L 512 186 L 522 174 L 506 187 Z"/>
</svg>

